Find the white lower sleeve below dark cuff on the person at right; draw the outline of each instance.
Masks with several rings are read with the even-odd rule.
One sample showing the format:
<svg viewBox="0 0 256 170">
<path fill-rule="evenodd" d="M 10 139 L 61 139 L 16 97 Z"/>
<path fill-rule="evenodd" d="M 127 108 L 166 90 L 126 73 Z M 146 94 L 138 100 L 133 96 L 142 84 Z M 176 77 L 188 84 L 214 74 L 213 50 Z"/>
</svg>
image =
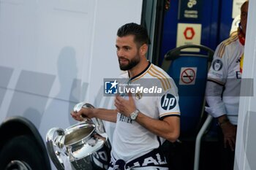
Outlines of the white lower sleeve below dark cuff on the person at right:
<svg viewBox="0 0 256 170">
<path fill-rule="evenodd" d="M 225 104 L 222 101 L 223 86 L 216 82 L 208 81 L 206 84 L 206 101 L 209 107 L 206 112 L 213 117 L 219 117 L 226 114 Z"/>
</svg>

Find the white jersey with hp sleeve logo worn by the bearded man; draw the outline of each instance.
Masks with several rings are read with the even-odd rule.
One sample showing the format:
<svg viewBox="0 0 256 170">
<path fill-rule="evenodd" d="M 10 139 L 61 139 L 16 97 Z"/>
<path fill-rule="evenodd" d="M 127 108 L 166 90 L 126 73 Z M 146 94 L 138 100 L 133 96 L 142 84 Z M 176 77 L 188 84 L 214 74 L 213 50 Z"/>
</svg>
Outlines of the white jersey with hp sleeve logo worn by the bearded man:
<svg viewBox="0 0 256 170">
<path fill-rule="evenodd" d="M 146 85 L 154 89 L 162 88 L 162 93 L 146 94 L 132 93 L 136 108 L 154 119 L 163 119 L 167 116 L 179 116 L 178 91 L 173 80 L 166 72 L 152 63 L 138 76 L 129 78 L 128 72 L 121 75 L 122 78 L 129 80 L 129 85 Z M 154 90 L 153 89 L 153 90 Z M 145 91 L 144 91 L 145 92 Z M 146 91 L 147 92 L 147 91 Z M 124 96 L 128 98 L 128 96 Z M 113 134 L 112 155 L 116 159 L 131 161 L 145 155 L 147 152 L 160 146 L 163 139 L 151 133 L 136 121 L 118 113 L 116 129 Z"/>
</svg>

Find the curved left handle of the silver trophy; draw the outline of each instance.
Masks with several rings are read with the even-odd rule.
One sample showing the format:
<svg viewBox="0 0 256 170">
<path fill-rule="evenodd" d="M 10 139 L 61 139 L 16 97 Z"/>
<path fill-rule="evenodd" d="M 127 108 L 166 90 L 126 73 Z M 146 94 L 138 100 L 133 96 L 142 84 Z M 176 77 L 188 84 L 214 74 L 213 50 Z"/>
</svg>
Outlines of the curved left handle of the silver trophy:
<svg viewBox="0 0 256 170">
<path fill-rule="evenodd" d="M 58 170 L 64 170 L 64 162 L 61 159 L 61 154 L 66 155 L 63 151 L 64 130 L 61 128 L 51 128 L 46 135 L 46 147 L 50 155 L 50 158 L 53 161 L 56 168 Z"/>
</svg>

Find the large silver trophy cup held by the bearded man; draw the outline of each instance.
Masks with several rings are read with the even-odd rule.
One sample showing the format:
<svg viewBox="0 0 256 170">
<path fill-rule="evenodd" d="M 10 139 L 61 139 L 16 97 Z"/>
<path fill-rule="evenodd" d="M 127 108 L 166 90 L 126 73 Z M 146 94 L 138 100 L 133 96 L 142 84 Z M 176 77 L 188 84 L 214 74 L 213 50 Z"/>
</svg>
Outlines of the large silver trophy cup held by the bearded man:
<svg viewBox="0 0 256 170">
<path fill-rule="evenodd" d="M 74 111 L 82 107 L 94 108 L 81 102 L 75 105 Z M 67 169 L 64 158 L 73 170 L 108 169 L 110 163 L 110 142 L 102 120 L 97 118 L 85 118 L 66 130 L 51 128 L 46 135 L 46 146 L 58 170 Z"/>
</svg>

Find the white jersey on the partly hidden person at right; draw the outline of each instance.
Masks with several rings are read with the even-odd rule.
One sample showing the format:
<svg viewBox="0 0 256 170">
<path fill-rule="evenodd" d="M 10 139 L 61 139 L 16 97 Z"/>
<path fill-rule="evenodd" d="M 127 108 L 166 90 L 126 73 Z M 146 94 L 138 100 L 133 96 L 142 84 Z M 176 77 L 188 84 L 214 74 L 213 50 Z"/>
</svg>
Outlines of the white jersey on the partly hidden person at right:
<svg viewBox="0 0 256 170">
<path fill-rule="evenodd" d="M 244 45 L 238 35 L 222 42 L 214 53 L 206 85 L 206 111 L 213 117 L 227 115 L 230 123 L 238 121 Z"/>
</svg>

